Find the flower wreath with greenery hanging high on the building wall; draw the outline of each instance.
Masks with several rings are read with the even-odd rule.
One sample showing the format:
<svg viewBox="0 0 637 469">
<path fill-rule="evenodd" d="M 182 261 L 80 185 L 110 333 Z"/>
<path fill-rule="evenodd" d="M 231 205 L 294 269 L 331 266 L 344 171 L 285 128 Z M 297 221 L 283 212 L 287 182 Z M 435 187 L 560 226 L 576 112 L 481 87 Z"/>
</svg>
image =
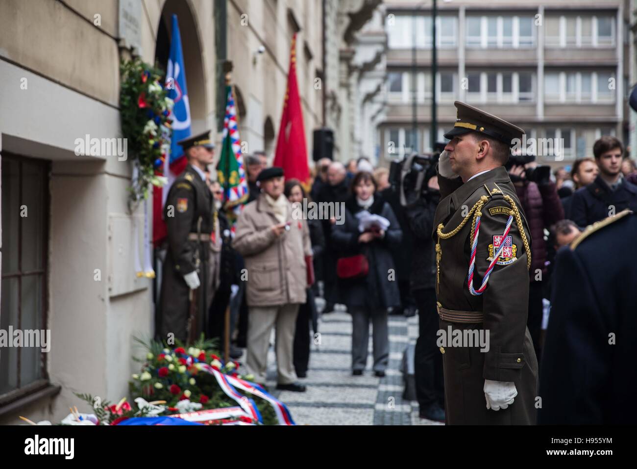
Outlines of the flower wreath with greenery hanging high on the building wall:
<svg viewBox="0 0 637 469">
<path fill-rule="evenodd" d="M 120 71 L 122 135 L 137 167 L 129 191 L 132 201 L 138 202 L 148 197 L 150 186 L 166 184 L 163 167 L 170 153 L 169 116 L 174 103 L 161 85 L 161 70 L 136 57 L 122 61 Z"/>
</svg>

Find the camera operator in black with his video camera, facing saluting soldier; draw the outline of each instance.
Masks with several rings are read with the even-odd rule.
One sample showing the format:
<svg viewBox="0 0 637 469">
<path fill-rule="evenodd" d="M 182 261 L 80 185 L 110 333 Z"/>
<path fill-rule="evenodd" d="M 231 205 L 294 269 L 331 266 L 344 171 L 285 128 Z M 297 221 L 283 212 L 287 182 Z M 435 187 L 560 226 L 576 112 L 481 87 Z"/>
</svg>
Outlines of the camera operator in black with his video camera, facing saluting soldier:
<svg viewBox="0 0 637 469">
<path fill-rule="evenodd" d="M 416 396 L 420 418 L 445 421 L 445 390 L 442 356 L 436 346 L 436 262 L 433 231 L 434 213 L 440 201 L 433 156 L 412 156 L 394 163 L 390 181 L 399 190 L 404 217 L 413 237 L 410 251 L 410 289 L 419 311 L 419 336 L 414 352 Z M 399 174 L 400 172 L 400 174 Z"/>
</svg>

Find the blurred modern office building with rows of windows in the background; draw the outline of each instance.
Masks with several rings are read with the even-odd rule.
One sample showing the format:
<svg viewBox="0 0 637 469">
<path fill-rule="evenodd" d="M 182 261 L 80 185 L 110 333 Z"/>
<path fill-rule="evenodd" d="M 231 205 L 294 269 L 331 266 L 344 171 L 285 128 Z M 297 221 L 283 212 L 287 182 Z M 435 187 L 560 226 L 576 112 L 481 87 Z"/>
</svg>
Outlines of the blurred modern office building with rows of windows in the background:
<svg viewBox="0 0 637 469">
<path fill-rule="evenodd" d="M 601 135 L 628 143 L 628 6 L 624 0 L 439 0 L 432 137 L 432 2 L 385 0 L 382 159 L 445 141 L 455 100 L 519 125 L 540 148 L 548 141 L 541 139 L 557 138 L 560 151 L 538 155 L 555 167 L 591 156 Z"/>
</svg>

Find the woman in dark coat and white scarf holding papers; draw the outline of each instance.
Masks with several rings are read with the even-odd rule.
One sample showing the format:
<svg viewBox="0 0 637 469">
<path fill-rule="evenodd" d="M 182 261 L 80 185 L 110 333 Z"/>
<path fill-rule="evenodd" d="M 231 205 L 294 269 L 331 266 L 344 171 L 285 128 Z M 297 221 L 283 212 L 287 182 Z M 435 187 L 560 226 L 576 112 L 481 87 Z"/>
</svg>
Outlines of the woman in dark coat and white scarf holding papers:
<svg viewBox="0 0 637 469">
<path fill-rule="evenodd" d="M 376 227 L 361 232 L 362 212 L 380 215 L 389 221 L 387 230 Z M 352 197 L 345 202 L 345 221 L 334 224 L 332 242 L 340 249 L 340 258 L 364 255 L 369 263 L 366 276 L 338 279 L 340 303 L 352 315 L 352 370 L 362 375 L 367 363 L 369 320 L 373 324 L 374 371 L 385 376 L 389 362 L 387 309 L 400 306 L 400 294 L 390 246 L 403 239 L 390 205 L 376 192 L 376 181 L 368 172 L 359 172 L 352 181 Z"/>
</svg>

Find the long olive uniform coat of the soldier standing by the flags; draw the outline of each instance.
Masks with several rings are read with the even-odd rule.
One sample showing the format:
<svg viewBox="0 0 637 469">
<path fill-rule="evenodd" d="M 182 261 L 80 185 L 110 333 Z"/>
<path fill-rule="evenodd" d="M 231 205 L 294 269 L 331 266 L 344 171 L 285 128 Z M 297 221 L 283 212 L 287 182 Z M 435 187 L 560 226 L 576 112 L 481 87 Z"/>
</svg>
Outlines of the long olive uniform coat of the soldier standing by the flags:
<svg viewBox="0 0 637 469">
<path fill-rule="evenodd" d="M 190 165 L 175 179 L 170 188 L 164 220 L 168 230 L 168 249 L 162 270 L 159 305 L 155 313 L 155 335 L 168 339 L 168 334 L 184 342 L 188 338 L 190 316 L 190 288 L 183 276 L 197 271 L 201 286 L 197 290 L 196 338 L 206 331 L 208 306 L 212 300 L 212 279 L 208 269 L 214 227 L 214 204 L 206 182 Z M 204 241 L 190 239 L 197 233 L 201 218 L 201 237 Z M 199 257 L 199 265 L 196 258 Z"/>
</svg>

